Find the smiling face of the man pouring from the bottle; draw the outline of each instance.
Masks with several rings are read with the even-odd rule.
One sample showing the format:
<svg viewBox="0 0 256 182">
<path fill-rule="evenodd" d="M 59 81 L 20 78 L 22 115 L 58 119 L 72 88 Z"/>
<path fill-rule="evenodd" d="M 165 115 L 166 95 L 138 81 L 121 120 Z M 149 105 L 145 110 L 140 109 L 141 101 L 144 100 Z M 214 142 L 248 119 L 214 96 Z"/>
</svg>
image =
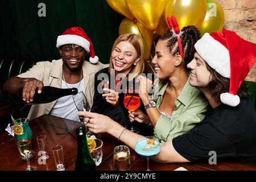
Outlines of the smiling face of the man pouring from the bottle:
<svg viewBox="0 0 256 182">
<path fill-rule="evenodd" d="M 67 67 L 71 71 L 81 68 L 86 55 L 84 48 L 76 44 L 66 44 L 59 51 L 63 60 L 63 67 Z"/>
</svg>

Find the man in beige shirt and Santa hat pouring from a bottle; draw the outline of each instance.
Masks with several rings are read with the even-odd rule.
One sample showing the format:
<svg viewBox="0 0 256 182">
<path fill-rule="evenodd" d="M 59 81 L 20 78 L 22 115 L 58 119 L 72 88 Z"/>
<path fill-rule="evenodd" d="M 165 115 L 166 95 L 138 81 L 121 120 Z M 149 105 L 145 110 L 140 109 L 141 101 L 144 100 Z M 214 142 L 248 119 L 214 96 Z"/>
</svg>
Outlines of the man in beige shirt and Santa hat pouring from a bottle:
<svg viewBox="0 0 256 182">
<path fill-rule="evenodd" d="M 33 101 L 36 88 L 42 92 L 44 85 L 56 88 L 77 88 L 88 97 L 92 106 L 94 95 L 94 74 L 107 67 L 98 62 L 93 44 L 81 27 L 71 27 L 58 36 L 56 47 L 61 59 L 36 63 L 27 72 L 6 81 L 4 89 L 11 94 L 21 94 L 24 101 Z M 86 53 L 90 53 L 90 63 L 85 61 Z M 52 114 L 58 117 L 79 121 L 77 109 L 72 96 L 62 97 L 59 100 L 40 105 L 32 105 L 29 119 L 43 114 Z"/>
</svg>

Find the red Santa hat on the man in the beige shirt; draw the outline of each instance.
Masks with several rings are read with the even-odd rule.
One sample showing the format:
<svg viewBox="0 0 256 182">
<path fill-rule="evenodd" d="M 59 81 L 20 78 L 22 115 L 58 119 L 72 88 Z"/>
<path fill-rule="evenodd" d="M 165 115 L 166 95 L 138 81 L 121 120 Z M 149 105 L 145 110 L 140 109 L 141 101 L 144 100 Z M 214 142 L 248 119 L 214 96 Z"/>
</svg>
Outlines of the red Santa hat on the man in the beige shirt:
<svg viewBox="0 0 256 182">
<path fill-rule="evenodd" d="M 85 51 L 90 52 L 90 63 L 95 64 L 98 62 L 98 56 L 95 56 L 93 44 L 81 27 L 68 28 L 62 35 L 58 36 L 56 47 L 59 48 L 65 44 L 81 46 Z"/>
</svg>

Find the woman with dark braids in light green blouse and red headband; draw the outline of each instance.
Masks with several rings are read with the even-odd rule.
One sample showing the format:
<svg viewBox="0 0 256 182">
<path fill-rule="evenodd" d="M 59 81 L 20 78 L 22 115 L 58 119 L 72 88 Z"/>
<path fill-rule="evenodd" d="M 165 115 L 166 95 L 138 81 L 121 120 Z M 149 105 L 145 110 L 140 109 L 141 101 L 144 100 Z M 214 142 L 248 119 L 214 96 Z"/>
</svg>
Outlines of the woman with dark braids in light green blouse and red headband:
<svg viewBox="0 0 256 182">
<path fill-rule="evenodd" d="M 179 36 L 180 43 L 178 42 Z M 200 32 L 195 26 L 184 27 L 179 34 L 169 30 L 159 38 L 152 63 L 160 79 L 159 91 L 151 100 L 147 90 L 152 82 L 146 77 L 139 77 L 141 100 L 147 111 L 130 112 L 130 121 L 147 123 L 154 127 L 155 137 L 166 142 L 192 130 L 205 117 L 207 100 L 200 90 L 189 85 L 191 73 L 187 64 L 196 52 L 194 44 L 200 39 Z"/>
</svg>

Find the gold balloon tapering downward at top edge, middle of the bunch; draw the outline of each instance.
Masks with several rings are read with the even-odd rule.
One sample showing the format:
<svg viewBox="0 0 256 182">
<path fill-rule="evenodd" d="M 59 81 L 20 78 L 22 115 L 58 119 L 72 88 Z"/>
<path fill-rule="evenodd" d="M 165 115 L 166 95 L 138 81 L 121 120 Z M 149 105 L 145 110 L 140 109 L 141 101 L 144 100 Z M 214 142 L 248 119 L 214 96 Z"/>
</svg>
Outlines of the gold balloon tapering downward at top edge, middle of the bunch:
<svg viewBox="0 0 256 182">
<path fill-rule="evenodd" d="M 163 14 L 166 0 L 125 0 L 131 14 L 149 30 L 155 30 Z"/>
</svg>

